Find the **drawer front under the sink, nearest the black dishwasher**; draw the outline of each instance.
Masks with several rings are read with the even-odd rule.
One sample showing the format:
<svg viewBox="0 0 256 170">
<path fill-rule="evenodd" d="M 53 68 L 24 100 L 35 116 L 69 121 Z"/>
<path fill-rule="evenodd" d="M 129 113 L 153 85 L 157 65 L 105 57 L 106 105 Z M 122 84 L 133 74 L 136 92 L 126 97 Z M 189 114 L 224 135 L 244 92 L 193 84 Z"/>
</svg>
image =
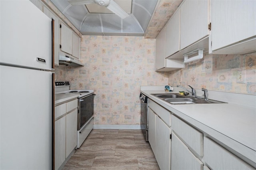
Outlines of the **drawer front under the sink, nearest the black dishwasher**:
<svg viewBox="0 0 256 170">
<path fill-rule="evenodd" d="M 171 113 L 158 105 L 156 102 L 148 99 L 148 106 L 156 113 L 169 127 L 171 126 Z"/>
</svg>

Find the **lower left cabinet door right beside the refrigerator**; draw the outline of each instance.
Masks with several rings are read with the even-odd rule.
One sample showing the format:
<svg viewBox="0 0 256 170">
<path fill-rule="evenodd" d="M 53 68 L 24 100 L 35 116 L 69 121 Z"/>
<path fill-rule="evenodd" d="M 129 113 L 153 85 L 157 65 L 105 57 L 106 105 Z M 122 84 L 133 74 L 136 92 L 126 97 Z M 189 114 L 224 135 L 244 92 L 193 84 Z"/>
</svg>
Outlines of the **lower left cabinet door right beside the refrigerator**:
<svg viewBox="0 0 256 170">
<path fill-rule="evenodd" d="M 66 117 L 55 121 L 55 169 L 65 161 L 65 123 Z"/>
</svg>

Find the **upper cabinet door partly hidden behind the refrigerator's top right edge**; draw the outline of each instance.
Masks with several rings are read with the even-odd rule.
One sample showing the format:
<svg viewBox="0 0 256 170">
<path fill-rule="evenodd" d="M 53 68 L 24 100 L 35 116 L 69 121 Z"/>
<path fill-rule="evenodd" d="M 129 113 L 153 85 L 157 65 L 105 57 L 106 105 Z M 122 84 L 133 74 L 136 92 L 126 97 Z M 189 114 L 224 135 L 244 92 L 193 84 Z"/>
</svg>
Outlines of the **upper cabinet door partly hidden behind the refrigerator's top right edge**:
<svg viewBox="0 0 256 170">
<path fill-rule="evenodd" d="M 59 65 L 59 18 L 44 6 L 44 14 L 54 19 L 54 64 Z"/>
</svg>

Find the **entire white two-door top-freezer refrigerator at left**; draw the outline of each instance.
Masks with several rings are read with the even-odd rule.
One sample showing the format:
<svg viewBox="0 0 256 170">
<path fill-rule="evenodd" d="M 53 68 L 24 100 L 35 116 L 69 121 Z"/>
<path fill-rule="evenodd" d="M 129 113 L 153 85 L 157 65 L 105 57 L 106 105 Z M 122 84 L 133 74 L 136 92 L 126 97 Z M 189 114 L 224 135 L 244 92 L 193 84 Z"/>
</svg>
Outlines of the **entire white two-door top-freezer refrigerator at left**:
<svg viewBox="0 0 256 170">
<path fill-rule="evenodd" d="M 0 169 L 53 167 L 52 20 L 0 0 Z"/>
</svg>

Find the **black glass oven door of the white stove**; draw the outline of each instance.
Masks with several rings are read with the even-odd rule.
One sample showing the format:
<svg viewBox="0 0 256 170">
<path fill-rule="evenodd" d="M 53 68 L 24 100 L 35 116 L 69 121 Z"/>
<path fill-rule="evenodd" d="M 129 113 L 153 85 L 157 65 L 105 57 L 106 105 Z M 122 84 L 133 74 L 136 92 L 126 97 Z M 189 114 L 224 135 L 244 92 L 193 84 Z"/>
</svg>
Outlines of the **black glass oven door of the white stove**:
<svg viewBox="0 0 256 170">
<path fill-rule="evenodd" d="M 80 130 L 87 121 L 93 117 L 94 95 L 91 94 L 78 99 L 78 123 L 77 130 Z"/>
</svg>

